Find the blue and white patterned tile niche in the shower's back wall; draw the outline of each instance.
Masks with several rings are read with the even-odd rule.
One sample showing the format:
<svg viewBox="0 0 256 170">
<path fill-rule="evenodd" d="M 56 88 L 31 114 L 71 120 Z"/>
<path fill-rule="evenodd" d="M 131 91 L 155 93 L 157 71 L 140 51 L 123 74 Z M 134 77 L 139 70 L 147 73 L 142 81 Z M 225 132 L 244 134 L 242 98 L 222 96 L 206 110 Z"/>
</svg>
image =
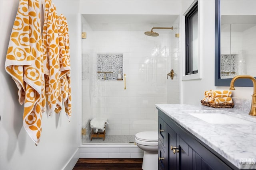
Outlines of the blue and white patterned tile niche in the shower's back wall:
<svg viewBox="0 0 256 170">
<path fill-rule="evenodd" d="M 118 74 L 121 78 L 118 79 Z M 123 79 L 123 54 L 97 54 L 98 80 Z"/>
</svg>

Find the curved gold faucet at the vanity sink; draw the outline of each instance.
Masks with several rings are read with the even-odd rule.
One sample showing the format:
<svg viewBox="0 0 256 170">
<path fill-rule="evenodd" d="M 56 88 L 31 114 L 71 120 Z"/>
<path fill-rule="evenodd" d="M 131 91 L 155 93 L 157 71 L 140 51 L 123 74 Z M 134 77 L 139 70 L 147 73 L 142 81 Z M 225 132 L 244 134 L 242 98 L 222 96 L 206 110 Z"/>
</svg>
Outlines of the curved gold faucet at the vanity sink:
<svg viewBox="0 0 256 170">
<path fill-rule="evenodd" d="M 252 105 L 251 105 L 251 111 L 249 112 L 249 115 L 256 116 L 256 80 L 253 76 L 248 76 L 248 75 L 235 76 L 230 82 L 229 90 L 236 90 L 234 88 L 234 82 L 240 78 L 248 78 L 253 82 Z"/>
</svg>

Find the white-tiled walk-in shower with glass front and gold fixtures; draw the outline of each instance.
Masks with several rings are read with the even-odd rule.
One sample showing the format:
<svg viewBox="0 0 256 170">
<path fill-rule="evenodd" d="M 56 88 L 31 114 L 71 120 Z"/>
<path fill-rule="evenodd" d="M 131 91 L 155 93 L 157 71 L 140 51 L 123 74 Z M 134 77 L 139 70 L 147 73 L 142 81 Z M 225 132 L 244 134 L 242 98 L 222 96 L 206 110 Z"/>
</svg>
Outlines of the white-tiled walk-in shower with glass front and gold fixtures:
<svg viewBox="0 0 256 170">
<path fill-rule="evenodd" d="M 144 35 L 159 25 L 158 37 Z M 157 131 L 155 104 L 179 103 L 178 28 L 173 15 L 82 15 L 82 144 L 134 145 L 136 133 Z M 166 79 L 170 68 L 174 80 Z M 108 119 L 105 140 L 90 140 L 96 117 Z"/>
</svg>

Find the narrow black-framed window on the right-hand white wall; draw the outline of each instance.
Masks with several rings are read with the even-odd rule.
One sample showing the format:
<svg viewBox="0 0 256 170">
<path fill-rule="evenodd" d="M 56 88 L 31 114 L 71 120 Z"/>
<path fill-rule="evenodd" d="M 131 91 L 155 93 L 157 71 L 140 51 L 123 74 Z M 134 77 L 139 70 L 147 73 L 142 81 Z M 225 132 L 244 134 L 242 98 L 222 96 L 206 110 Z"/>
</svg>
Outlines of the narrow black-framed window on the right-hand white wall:
<svg viewBox="0 0 256 170">
<path fill-rule="evenodd" d="M 185 16 L 186 75 L 198 73 L 198 5 Z"/>
</svg>

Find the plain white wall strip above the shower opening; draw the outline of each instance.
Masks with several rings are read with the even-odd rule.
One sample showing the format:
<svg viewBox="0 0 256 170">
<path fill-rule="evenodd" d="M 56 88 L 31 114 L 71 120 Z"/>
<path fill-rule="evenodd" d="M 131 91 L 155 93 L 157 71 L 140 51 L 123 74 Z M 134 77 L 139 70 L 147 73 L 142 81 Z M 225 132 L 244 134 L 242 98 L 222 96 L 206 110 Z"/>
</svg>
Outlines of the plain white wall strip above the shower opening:
<svg viewBox="0 0 256 170">
<path fill-rule="evenodd" d="M 177 15 L 180 9 L 180 0 L 80 0 L 81 14 Z"/>
</svg>

